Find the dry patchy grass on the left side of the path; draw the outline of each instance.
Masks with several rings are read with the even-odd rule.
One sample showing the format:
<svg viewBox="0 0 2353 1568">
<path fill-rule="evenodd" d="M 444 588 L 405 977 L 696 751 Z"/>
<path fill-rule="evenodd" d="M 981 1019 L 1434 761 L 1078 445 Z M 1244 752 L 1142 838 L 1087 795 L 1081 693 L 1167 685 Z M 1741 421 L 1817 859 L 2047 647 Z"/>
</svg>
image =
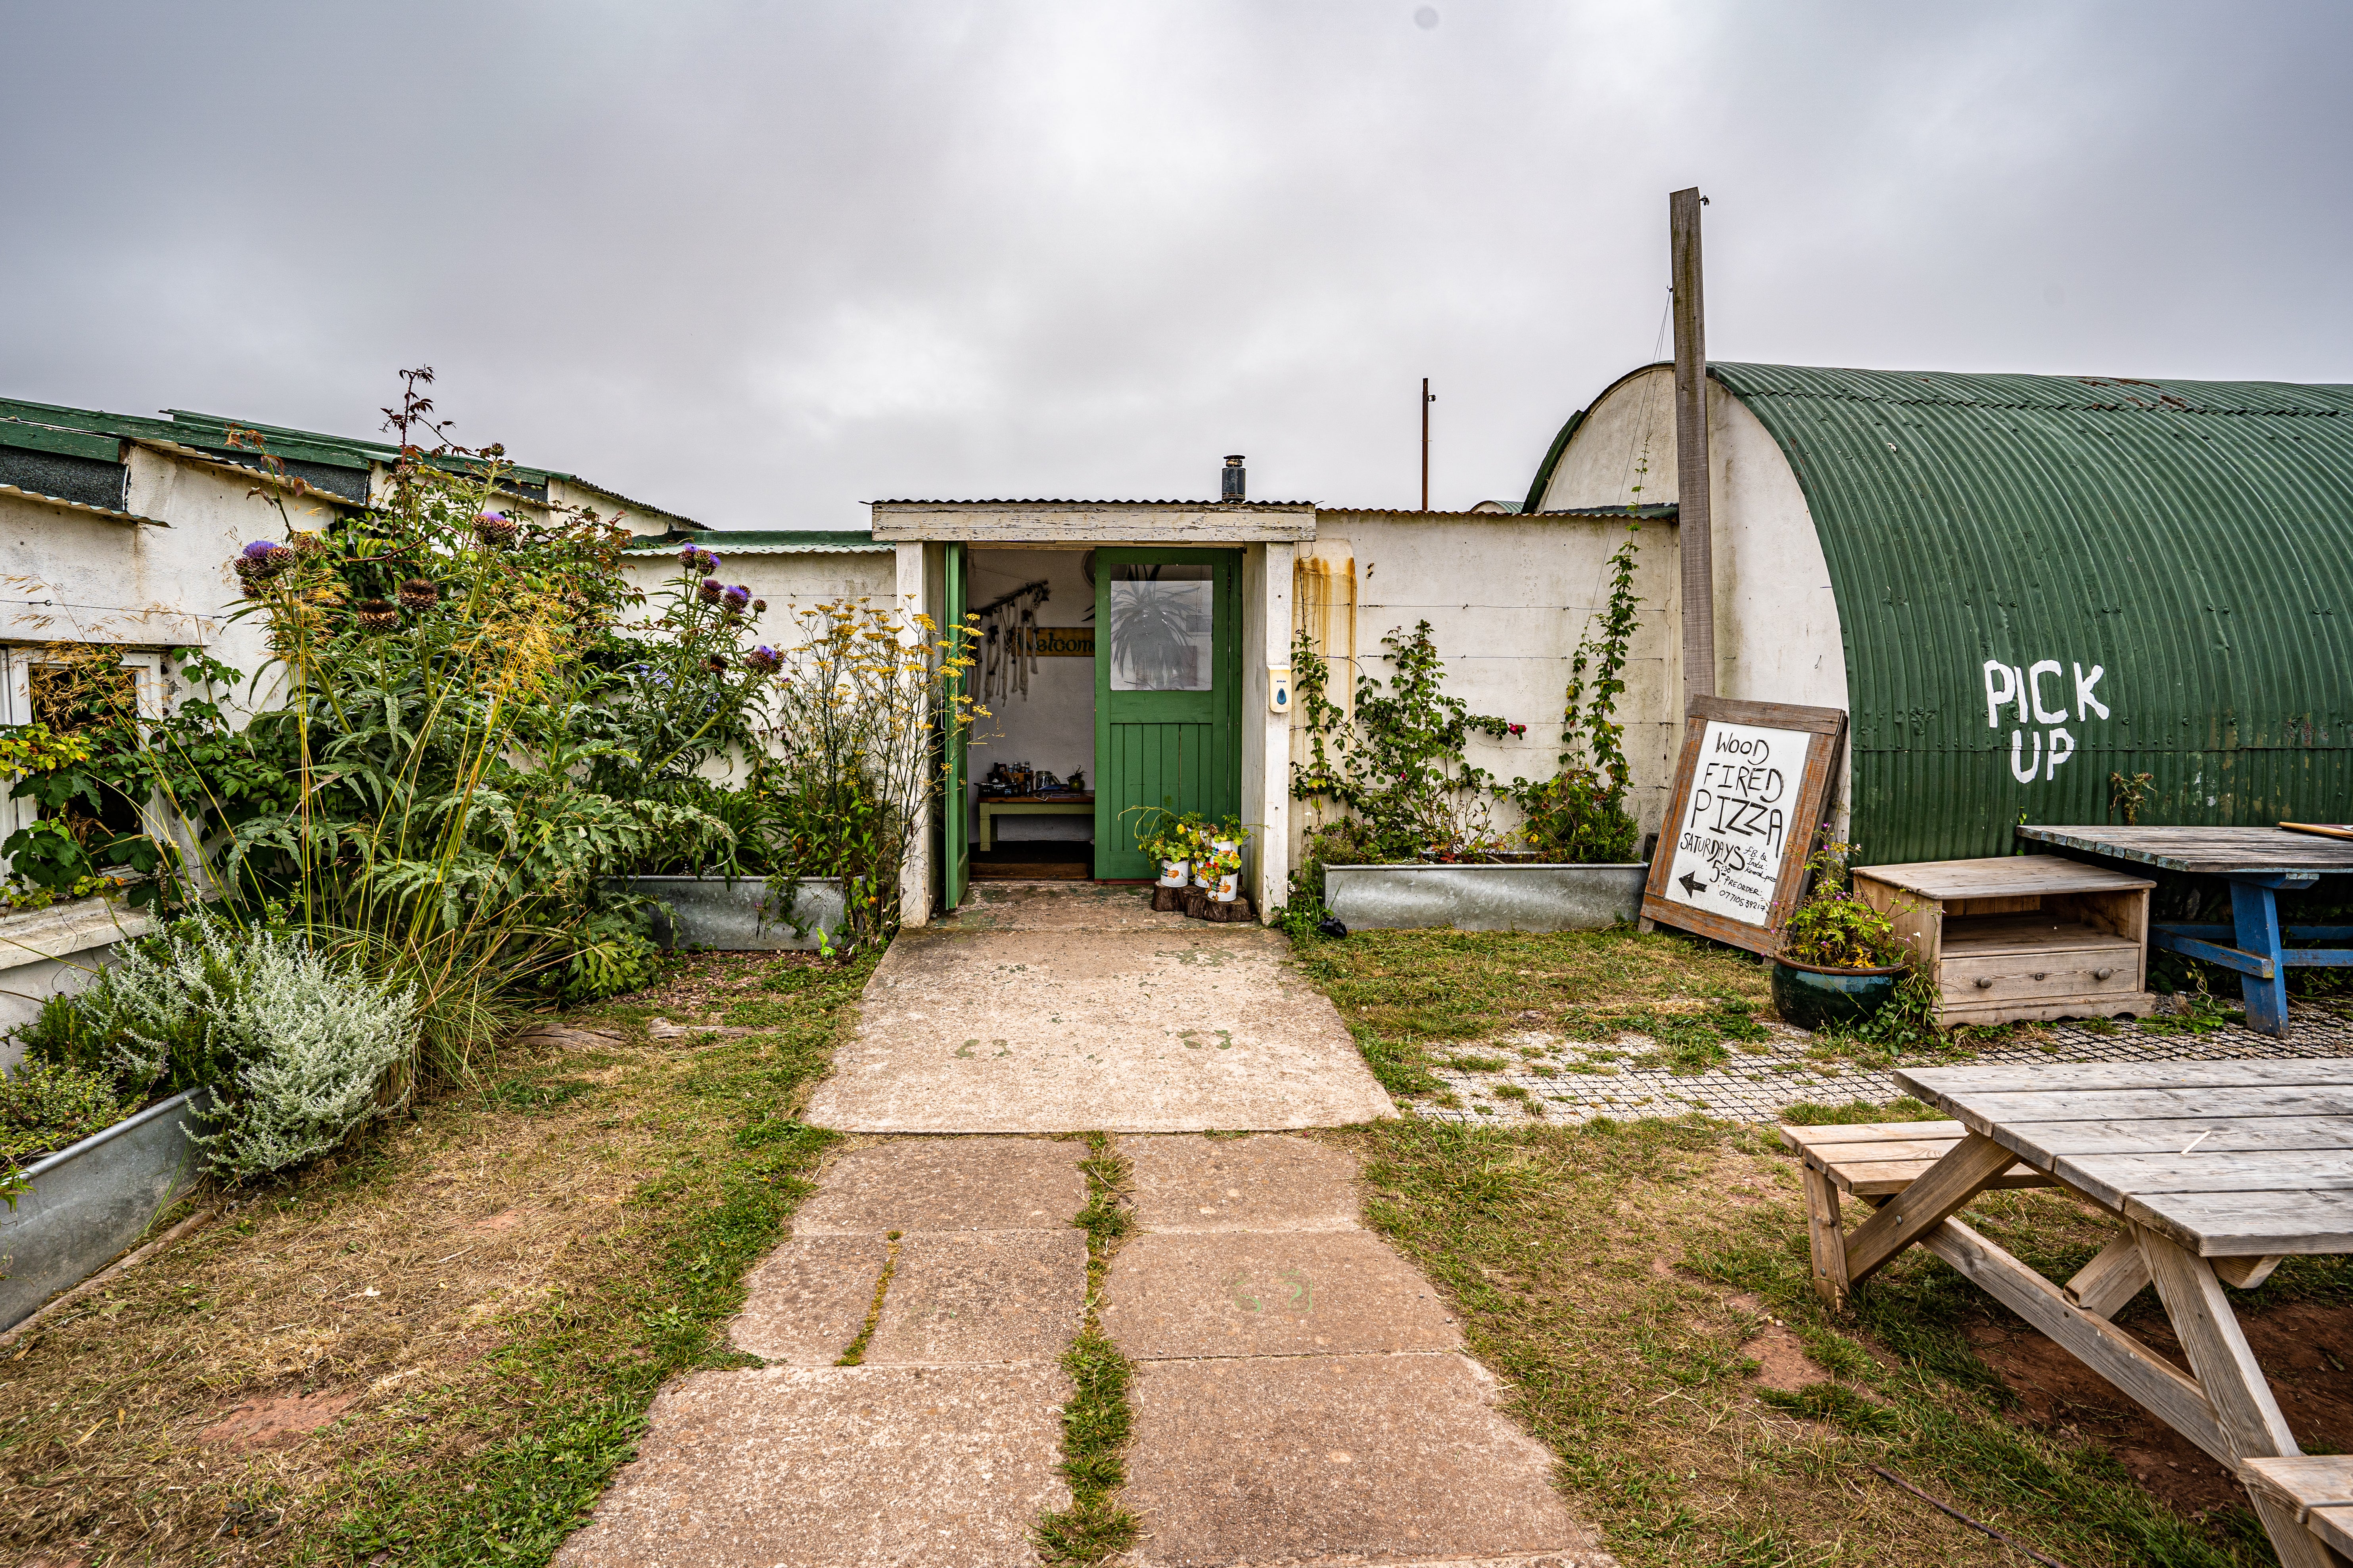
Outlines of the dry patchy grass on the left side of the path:
<svg viewBox="0 0 2353 1568">
<path fill-rule="evenodd" d="M 569 1013 L 0 1349 L 0 1561 L 544 1561 L 661 1380 L 736 1361 L 868 969 L 708 957 Z"/>
</svg>

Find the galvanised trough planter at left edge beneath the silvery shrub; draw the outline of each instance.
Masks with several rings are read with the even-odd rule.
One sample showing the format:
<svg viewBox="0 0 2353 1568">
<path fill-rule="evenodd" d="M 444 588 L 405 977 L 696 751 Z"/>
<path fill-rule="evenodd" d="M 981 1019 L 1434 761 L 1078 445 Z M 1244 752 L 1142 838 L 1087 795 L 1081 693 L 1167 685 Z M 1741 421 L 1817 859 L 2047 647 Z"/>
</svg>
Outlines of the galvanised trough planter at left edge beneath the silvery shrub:
<svg viewBox="0 0 2353 1568">
<path fill-rule="evenodd" d="M 0 1328 L 96 1274 L 195 1185 L 188 1124 L 202 1093 L 148 1105 L 24 1171 L 33 1190 L 0 1208 Z"/>
</svg>

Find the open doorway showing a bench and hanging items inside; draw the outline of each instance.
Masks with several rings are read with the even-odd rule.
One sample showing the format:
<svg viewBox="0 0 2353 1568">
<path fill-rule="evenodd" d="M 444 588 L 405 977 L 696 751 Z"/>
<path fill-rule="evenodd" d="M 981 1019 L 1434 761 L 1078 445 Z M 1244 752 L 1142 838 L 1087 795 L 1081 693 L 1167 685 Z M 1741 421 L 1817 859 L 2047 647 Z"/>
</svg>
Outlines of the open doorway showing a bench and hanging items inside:
<svg viewBox="0 0 2353 1568">
<path fill-rule="evenodd" d="M 974 882 L 1094 877 L 1094 583 L 1085 550 L 972 550 Z"/>
</svg>

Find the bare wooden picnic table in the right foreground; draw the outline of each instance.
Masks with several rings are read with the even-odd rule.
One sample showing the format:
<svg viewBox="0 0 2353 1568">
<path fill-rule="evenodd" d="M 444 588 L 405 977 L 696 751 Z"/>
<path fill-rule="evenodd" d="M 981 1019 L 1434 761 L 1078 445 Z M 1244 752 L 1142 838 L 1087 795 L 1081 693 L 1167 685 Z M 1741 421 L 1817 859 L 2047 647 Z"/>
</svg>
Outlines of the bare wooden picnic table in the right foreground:
<svg viewBox="0 0 2353 1568">
<path fill-rule="evenodd" d="M 2075 1063 L 1899 1070 L 1897 1084 L 1953 1121 L 1784 1126 L 1805 1154 L 1814 1284 L 1854 1284 L 1918 1241 L 2233 1474 L 2287 1568 L 2346 1559 L 2322 1544 L 2353 1460 L 2301 1467 L 2224 1286 L 2252 1288 L 2282 1258 L 2353 1253 L 2353 1060 Z M 2115 1215 L 2118 1232 L 2057 1286 L 1953 1218 L 1986 1187 L 2057 1185 Z M 1838 1197 L 1878 1201 L 1854 1232 Z M 2195 1375 L 2111 1319 L 2155 1284 Z M 2289 1483 L 2306 1493 L 2285 1490 Z"/>
</svg>

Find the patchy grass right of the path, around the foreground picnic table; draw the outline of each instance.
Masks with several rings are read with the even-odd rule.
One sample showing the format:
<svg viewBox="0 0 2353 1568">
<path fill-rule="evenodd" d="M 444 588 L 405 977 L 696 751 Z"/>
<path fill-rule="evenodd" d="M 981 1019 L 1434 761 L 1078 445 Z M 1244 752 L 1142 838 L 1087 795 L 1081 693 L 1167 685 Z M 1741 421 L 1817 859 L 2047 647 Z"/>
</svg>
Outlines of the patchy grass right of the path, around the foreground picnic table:
<svg viewBox="0 0 2353 1568">
<path fill-rule="evenodd" d="M 2108 1446 L 2028 1420 L 1972 1345 L 2007 1314 L 1927 1253 L 1828 1316 L 1795 1164 L 1762 1128 L 1402 1121 L 1344 1138 L 1367 1161 L 1367 1220 L 1447 1291 L 1626 1563 L 2024 1561 L 1871 1465 L 2073 1568 L 2271 1561 L 2242 1505 L 2174 1512 Z M 2049 1192 L 1986 1194 L 1969 1218 L 2059 1279 L 2104 1241 Z M 2297 1260 L 2249 1309 L 2297 1300 L 2341 1312 L 2353 1269 Z"/>
</svg>

